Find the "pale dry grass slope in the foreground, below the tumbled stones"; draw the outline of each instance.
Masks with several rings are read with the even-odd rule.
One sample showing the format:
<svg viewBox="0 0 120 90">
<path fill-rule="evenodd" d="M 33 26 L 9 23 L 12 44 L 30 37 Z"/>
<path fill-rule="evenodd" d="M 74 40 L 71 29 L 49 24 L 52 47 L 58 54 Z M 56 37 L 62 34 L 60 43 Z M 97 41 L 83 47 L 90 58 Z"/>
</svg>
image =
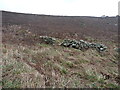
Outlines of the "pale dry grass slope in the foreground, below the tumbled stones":
<svg viewBox="0 0 120 90">
<path fill-rule="evenodd" d="M 4 88 L 118 87 L 115 55 L 109 52 L 47 44 L 3 44 L 2 52 Z"/>
</svg>

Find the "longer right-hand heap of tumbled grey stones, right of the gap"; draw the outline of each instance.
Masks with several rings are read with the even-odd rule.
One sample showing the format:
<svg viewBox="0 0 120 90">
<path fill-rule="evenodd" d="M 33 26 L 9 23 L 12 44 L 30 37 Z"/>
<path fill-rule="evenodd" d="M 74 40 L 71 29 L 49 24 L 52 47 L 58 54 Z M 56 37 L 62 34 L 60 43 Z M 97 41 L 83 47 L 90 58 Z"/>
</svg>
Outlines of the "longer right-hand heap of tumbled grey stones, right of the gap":
<svg viewBox="0 0 120 90">
<path fill-rule="evenodd" d="M 72 48 L 79 49 L 79 50 L 87 50 L 89 48 L 95 48 L 98 52 L 102 52 L 107 49 L 107 47 L 103 44 L 89 43 L 84 40 L 77 41 L 77 40 L 69 40 L 69 39 L 67 40 L 65 39 L 61 43 L 61 46 L 72 47 Z"/>
</svg>

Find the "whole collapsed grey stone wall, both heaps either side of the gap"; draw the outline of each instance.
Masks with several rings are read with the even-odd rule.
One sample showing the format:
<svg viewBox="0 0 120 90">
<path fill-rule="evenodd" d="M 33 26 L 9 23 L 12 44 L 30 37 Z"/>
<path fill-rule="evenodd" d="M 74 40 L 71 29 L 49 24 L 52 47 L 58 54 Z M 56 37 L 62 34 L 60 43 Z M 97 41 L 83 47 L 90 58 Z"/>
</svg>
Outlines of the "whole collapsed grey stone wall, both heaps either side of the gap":
<svg viewBox="0 0 120 90">
<path fill-rule="evenodd" d="M 54 45 L 56 43 L 56 39 L 53 37 L 48 37 L 48 36 L 40 36 L 40 38 L 45 42 L 46 44 L 51 44 Z M 65 39 L 63 42 L 60 44 L 60 46 L 64 47 L 70 47 L 70 48 L 75 48 L 79 50 L 87 50 L 89 48 L 96 49 L 98 52 L 105 51 L 107 47 L 103 44 L 98 44 L 98 43 L 90 43 L 84 40 L 70 40 L 70 39 Z"/>
</svg>

